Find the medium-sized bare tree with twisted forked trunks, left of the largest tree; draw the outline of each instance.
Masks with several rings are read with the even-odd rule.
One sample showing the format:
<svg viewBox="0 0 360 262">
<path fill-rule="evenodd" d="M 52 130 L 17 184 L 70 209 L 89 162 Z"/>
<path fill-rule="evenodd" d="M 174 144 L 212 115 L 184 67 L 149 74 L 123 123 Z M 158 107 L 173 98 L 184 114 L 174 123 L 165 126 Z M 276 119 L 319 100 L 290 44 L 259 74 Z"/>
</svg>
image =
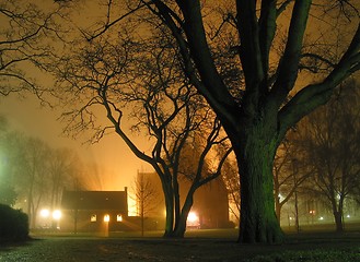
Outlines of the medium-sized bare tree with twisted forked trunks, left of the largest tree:
<svg viewBox="0 0 360 262">
<path fill-rule="evenodd" d="M 127 32 L 117 37 L 120 40 L 116 45 L 112 44 L 114 39 L 102 37 L 82 44 L 77 49 L 79 52 L 68 53 L 69 57 L 49 67 L 59 80 L 56 91 L 62 97 L 70 94 L 65 102 L 71 109 L 63 115 L 69 120 L 68 130 L 95 129 L 95 141 L 109 129 L 115 130 L 133 154 L 149 163 L 160 177 L 166 206 L 164 235 L 183 237 L 194 192 L 220 175 L 216 168 L 211 174 L 202 172 L 205 158 L 210 157 L 213 147 L 223 144 L 227 136 L 221 133 L 221 124 L 212 111 L 185 81 L 178 53 L 166 37 L 160 35 L 142 45 Z M 78 93 L 77 104 L 72 103 L 74 93 Z M 98 105 L 105 109 L 109 126 L 96 122 Z M 131 119 L 132 131 L 147 134 L 150 150 L 147 146 L 144 151 L 143 145 L 127 134 L 126 116 Z M 178 190 L 182 152 L 195 133 L 201 135 L 200 155 L 182 205 Z M 217 164 L 220 167 L 222 160 Z"/>
</svg>

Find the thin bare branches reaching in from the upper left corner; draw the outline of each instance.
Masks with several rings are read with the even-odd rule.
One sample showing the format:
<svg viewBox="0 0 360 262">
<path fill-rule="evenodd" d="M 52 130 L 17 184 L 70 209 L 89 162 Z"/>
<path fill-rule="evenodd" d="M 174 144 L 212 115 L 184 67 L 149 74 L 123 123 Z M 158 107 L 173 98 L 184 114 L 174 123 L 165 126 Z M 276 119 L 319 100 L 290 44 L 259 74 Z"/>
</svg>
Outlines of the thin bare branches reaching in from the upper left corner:
<svg viewBox="0 0 360 262">
<path fill-rule="evenodd" d="M 65 14 L 66 4 L 4 0 L 0 3 L 0 96 L 31 91 L 38 97 L 40 87 L 36 67 L 51 52 L 53 37 L 62 29 L 56 23 Z M 40 68 L 40 67 L 39 67 Z"/>
</svg>

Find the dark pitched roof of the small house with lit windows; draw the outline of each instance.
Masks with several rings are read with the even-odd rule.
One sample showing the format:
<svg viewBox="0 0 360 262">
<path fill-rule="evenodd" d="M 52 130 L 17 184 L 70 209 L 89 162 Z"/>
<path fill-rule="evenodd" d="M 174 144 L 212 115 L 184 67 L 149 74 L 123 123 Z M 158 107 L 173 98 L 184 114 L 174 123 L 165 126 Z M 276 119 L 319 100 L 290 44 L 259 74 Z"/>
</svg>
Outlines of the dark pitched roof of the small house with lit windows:
<svg viewBox="0 0 360 262">
<path fill-rule="evenodd" d="M 128 211 L 125 191 L 67 191 L 62 192 L 62 210 Z"/>
</svg>

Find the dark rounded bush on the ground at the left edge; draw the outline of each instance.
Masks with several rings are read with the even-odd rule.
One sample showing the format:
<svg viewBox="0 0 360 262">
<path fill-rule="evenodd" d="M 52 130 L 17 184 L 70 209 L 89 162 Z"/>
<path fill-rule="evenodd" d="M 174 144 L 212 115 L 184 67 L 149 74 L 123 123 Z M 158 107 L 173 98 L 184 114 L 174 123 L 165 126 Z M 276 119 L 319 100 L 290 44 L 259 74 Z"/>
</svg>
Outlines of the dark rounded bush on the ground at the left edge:
<svg viewBox="0 0 360 262">
<path fill-rule="evenodd" d="M 28 238 L 28 217 L 20 210 L 0 204 L 0 242 Z"/>
</svg>

